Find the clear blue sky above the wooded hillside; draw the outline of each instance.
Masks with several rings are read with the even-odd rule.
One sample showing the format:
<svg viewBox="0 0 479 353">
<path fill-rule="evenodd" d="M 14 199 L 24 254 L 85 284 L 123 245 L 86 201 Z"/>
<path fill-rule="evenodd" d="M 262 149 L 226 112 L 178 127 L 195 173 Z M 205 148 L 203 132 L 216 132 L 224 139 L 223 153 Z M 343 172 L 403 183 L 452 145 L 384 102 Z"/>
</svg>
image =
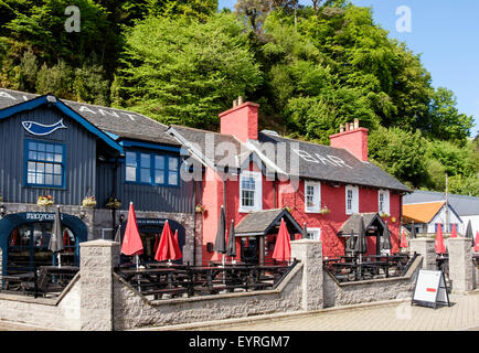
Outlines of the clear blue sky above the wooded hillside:
<svg viewBox="0 0 479 353">
<path fill-rule="evenodd" d="M 300 0 L 310 4 L 309 0 Z M 433 76 L 434 87 L 447 87 L 457 97 L 459 111 L 475 117 L 471 136 L 479 131 L 479 1 L 477 0 L 352 0 L 372 7 L 374 21 L 390 36 L 405 42 L 421 54 L 424 67 Z M 235 0 L 220 0 L 220 9 L 233 8 Z M 411 9 L 411 32 L 400 33 L 396 9 Z"/>
</svg>

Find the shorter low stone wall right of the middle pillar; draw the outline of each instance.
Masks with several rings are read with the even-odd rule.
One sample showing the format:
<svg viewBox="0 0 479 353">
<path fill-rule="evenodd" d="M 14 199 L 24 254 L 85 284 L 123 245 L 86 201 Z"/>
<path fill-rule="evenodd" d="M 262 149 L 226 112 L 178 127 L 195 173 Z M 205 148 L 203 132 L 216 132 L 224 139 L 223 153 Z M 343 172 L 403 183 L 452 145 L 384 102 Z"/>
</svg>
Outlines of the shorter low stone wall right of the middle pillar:
<svg viewBox="0 0 479 353">
<path fill-rule="evenodd" d="M 422 261 L 423 258 L 418 256 L 404 277 L 354 282 L 338 282 L 333 276 L 324 270 L 324 308 L 412 297 Z"/>
</svg>

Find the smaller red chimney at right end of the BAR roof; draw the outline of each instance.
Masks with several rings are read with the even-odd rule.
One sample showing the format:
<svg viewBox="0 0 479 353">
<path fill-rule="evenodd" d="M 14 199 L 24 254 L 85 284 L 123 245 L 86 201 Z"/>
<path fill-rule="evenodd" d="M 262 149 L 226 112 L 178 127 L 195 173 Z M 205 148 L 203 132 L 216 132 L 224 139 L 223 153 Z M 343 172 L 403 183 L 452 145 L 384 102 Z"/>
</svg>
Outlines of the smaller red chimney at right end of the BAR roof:
<svg viewBox="0 0 479 353">
<path fill-rule="evenodd" d="M 340 129 L 339 133 L 329 137 L 331 147 L 343 148 L 355 158 L 368 162 L 368 132 L 366 128 L 360 128 L 360 121 L 345 124 L 345 131 Z"/>
</svg>

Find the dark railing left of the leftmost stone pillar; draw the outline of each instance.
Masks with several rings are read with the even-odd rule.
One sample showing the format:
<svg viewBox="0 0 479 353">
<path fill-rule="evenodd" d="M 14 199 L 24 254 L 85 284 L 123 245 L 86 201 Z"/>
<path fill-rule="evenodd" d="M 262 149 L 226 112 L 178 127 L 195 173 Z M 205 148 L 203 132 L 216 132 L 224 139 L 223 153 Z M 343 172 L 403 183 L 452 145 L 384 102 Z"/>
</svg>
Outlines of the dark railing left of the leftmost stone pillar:
<svg viewBox="0 0 479 353">
<path fill-rule="evenodd" d="M 77 266 L 40 266 L 30 271 L 1 276 L 1 292 L 33 297 L 57 297 L 78 272 Z"/>
</svg>

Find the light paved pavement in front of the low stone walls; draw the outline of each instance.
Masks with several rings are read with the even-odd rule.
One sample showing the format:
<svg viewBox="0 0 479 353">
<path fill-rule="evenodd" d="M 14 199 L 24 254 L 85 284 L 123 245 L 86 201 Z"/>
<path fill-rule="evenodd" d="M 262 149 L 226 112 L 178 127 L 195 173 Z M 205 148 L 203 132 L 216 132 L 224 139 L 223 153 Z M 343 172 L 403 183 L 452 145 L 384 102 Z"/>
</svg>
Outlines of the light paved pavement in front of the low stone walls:
<svg viewBox="0 0 479 353">
<path fill-rule="evenodd" d="M 451 306 L 436 309 L 395 301 L 350 309 L 326 309 L 312 314 L 249 320 L 210 327 L 178 328 L 200 331 L 479 331 L 479 292 L 450 295 Z"/>
</svg>

